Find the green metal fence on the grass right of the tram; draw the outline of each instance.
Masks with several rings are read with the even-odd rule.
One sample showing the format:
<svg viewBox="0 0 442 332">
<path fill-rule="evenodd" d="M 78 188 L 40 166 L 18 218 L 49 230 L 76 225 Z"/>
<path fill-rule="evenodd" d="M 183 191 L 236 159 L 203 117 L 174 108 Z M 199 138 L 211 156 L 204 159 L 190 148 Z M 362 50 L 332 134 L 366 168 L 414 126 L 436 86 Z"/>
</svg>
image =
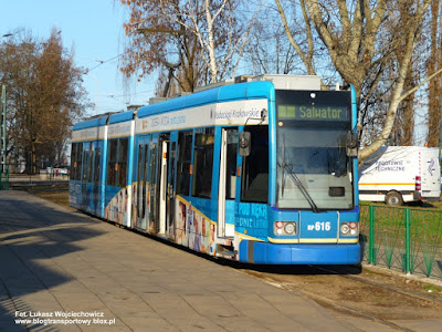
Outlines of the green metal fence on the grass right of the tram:
<svg viewBox="0 0 442 332">
<path fill-rule="evenodd" d="M 442 279 L 442 211 L 361 206 L 364 261 Z"/>
</svg>

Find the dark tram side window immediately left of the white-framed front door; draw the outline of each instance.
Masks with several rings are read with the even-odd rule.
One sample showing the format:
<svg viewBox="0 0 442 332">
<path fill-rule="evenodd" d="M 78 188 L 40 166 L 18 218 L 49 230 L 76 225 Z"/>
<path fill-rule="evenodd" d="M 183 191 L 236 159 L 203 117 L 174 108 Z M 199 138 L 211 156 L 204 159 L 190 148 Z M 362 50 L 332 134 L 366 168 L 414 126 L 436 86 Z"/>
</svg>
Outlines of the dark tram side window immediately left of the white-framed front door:
<svg viewBox="0 0 442 332">
<path fill-rule="evenodd" d="M 194 131 L 192 196 L 210 198 L 212 190 L 214 128 Z"/>
</svg>

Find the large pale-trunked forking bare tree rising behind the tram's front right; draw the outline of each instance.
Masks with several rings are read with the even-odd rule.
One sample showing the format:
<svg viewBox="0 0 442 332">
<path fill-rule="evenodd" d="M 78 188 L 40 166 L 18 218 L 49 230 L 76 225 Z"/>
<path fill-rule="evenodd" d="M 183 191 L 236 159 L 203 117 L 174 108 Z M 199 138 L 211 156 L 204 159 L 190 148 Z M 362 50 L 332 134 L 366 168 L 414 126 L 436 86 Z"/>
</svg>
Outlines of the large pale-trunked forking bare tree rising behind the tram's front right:
<svg viewBox="0 0 442 332">
<path fill-rule="evenodd" d="M 299 0 L 305 18 L 306 33 L 313 40 L 312 27 L 320 42 L 327 48 L 333 65 L 347 83 L 355 86 L 358 104 L 364 106 L 370 95 L 385 79 L 383 73 L 391 61 L 397 61 L 398 70 L 393 84 L 389 87 L 388 110 L 379 134 L 366 142 L 359 152 L 364 160 L 387 143 L 400 103 L 414 93 L 423 82 L 407 90 L 406 80 L 412 64 L 412 56 L 422 28 L 424 14 L 432 0 L 410 1 L 346 1 L 346 0 Z M 313 65 L 314 55 L 305 53 L 295 44 L 291 35 L 284 8 L 275 0 L 287 37 L 304 60 L 311 74 L 316 74 Z M 393 25 L 388 25 L 393 24 Z M 401 27 L 401 29 L 398 29 Z M 386 33 L 394 31 L 394 33 Z M 312 48 L 313 50 L 313 48 Z M 313 53 L 314 54 L 314 53 Z M 394 56 L 400 54 L 401 56 Z M 440 72 L 434 72 L 425 81 Z M 385 95 L 386 96 L 386 95 Z M 369 114 L 361 114 L 361 116 Z M 371 114 L 373 115 L 373 114 Z M 375 122 L 376 118 L 367 120 Z"/>
</svg>

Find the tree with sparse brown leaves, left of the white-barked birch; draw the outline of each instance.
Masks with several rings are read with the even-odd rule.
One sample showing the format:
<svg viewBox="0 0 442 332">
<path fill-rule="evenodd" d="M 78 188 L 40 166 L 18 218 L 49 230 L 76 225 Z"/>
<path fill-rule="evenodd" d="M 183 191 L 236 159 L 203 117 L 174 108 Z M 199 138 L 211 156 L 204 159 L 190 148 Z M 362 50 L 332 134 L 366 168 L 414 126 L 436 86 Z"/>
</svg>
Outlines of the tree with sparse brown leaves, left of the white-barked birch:
<svg viewBox="0 0 442 332">
<path fill-rule="evenodd" d="M 154 71 L 159 71 L 157 90 L 166 90 L 167 84 L 173 86 L 176 82 L 180 92 L 193 92 L 194 87 L 206 83 L 204 63 L 193 34 L 165 17 L 158 1 L 119 1 L 129 12 L 129 18 L 124 23 L 127 45 L 120 62 L 120 70 L 127 79 L 136 76 L 141 80 Z M 188 21 L 182 3 L 173 0 L 167 3 L 173 6 L 183 21 Z M 179 66 L 175 66 L 173 71 L 168 71 L 167 65 L 178 63 Z M 171 66 L 173 65 L 169 65 L 169 69 Z M 170 73 L 175 80 L 168 79 Z M 164 95 L 164 92 L 158 91 L 157 94 Z"/>
</svg>

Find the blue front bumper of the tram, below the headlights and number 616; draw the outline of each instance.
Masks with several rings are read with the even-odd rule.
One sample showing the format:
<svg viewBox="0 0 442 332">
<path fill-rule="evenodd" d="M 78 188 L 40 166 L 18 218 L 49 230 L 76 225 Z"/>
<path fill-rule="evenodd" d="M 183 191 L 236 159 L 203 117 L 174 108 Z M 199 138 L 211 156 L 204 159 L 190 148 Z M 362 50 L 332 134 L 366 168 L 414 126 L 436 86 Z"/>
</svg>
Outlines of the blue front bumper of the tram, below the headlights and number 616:
<svg viewBox="0 0 442 332">
<path fill-rule="evenodd" d="M 255 264 L 358 264 L 360 259 L 359 243 L 240 243 L 240 261 Z"/>
</svg>

